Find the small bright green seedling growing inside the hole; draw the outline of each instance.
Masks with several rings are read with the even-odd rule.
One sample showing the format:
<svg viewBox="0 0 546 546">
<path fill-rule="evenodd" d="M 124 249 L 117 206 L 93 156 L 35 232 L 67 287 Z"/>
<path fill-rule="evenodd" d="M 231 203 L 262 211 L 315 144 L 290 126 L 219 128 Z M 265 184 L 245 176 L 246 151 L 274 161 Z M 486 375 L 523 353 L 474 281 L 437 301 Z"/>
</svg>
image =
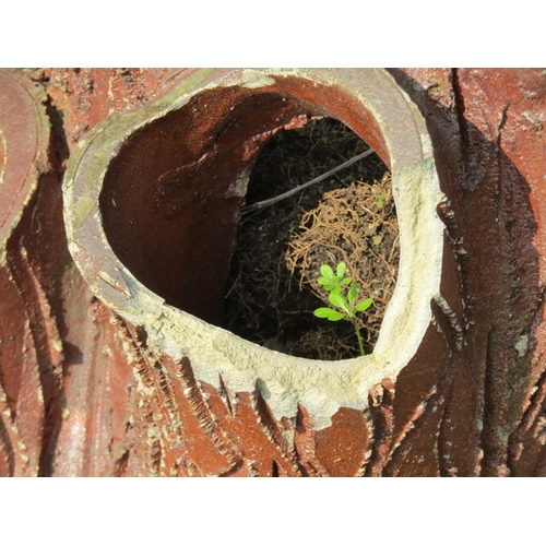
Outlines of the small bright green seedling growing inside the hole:
<svg viewBox="0 0 546 546">
<path fill-rule="evenodd" d="M 337 264 L 335 273 L 330 265 L 324 264 L 320 268 L 320 272 L 323 276 L 319 277 L 319 283 L 330 293 L 328 296 L 329 301 L 340 309 L 340 311 L 330 307 L 319 307 L 314 310 L 313 314 L 320 319 L 331 320 L 332 322 L 342 319 L 351 320 L 358 339 L 360 354 L 365 355 L 363 337 L 358 324 L 356 323 L 355 314 L 359 311 L 366 311 L 373 302 L 373 299 L 368 298 L 359 304 L 356 302 L 356 298 L 360 292 L 360 285 L 358 283 L 353 283 L 353 277 L 345 277 L 346 269 L 345 262 L 340 262 Z"/>
</svg>

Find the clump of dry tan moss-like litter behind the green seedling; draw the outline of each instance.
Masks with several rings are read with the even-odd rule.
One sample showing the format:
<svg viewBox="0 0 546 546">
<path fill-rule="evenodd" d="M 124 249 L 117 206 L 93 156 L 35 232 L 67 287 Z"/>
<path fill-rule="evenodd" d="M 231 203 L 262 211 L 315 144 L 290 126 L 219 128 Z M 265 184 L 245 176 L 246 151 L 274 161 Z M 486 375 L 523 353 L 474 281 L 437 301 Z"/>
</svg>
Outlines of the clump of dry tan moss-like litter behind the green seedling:
<svg viewBox="0 0 546 546">
<path fill-rule="evenodd" d="M 391 192 L 391 178 L 385 175 L 375 183 L 353 182 L 324 193 L 319 206 L 304 214 L 300 225 L 288 240 L 286 263 L 299 277 L 299 289 L 309 286 L 324 305 L 328 293 L 319 285 L 318 272 L 323 263 L 334 268 L 347 264 L 347 275 L 360 285 L 361 299 L 373 298 L 373 305 L 356 317 L 366 345 L 375 345 L 387 304 L 397 274 L 399 229 Z M 333 327 L 323 325 L 317 337 L 330 337 L 325 349 L 313 347 L 312 335 L 294 340 L 296 348 L 325 358 L 343 353 L 336 345 L 353 345 L 339 340 Z"/>
</svg>

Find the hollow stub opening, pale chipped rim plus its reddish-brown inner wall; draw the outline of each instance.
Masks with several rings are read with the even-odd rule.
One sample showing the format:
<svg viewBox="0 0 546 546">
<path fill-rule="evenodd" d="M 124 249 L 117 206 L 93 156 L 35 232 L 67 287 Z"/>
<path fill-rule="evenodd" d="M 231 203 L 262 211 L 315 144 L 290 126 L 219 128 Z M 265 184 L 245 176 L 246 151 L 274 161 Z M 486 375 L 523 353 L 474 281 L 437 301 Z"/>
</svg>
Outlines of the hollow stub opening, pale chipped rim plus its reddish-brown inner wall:
<svg viewBox="0 0 546 546">
<path fill-rule="evenodd" d="M 396 287 L 372 354 L 296 358 L 218 325 L 249 173 L 266 140 L 304 116 L 336 118 L 392 173 Z M 304 405 L 316 428 L 364 410 L 426 343 L 440 292 L 442 200 L 417 107 L 382 70 L 194 70 L 154 104 L 90 131 L 64 176 L 70 251 L 94 294 L 197 379 L 258 388 L 275 416 Z"/>
</svg>

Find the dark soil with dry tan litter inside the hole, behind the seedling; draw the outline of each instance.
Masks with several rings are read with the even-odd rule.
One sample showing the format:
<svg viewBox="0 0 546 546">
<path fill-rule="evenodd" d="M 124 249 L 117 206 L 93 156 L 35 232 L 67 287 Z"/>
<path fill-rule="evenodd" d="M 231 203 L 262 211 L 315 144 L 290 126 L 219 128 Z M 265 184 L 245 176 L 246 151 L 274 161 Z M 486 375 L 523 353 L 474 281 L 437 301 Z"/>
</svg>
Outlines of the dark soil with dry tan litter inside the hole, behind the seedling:
<svg viewBox="0 0 546 546">
<path fill-rule="evenodd" d="M 368 145 L 333 119 L 281 131 L 252 170 L 247 204 L 278 195 L 366 151 Z M 367 353 L 397 273 L 397 223 L 390 174 L 372 154 L 272 206 L 242 216 L 226 294 L 225 328 L 254 343 L 306 358 L 359 355 L 348 321 L 313 316 L 329 306 L 320 266 L 344 261 L 373 305 L 358 317 Z"/>
</svg>

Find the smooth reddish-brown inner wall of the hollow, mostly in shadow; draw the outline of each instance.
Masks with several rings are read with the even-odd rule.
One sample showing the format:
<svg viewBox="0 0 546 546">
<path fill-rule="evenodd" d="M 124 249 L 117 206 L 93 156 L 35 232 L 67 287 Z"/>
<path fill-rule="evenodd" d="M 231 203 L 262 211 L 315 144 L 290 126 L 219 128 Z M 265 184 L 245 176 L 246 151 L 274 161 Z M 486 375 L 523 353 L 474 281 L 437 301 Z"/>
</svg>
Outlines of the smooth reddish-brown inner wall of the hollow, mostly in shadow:
<svg viewBox="0 0 546 546">
<path fill-rule="evenodd" d="M 100 193 L 119 260 L 167 304 L 221 324 L 248 175 L 277 130 L 314 115 L 347 124 L 390 167 L 381 132 L 355 97 L 295 76 L 266 91 L 203 91 L 134 132 Z"/>
</svg>

